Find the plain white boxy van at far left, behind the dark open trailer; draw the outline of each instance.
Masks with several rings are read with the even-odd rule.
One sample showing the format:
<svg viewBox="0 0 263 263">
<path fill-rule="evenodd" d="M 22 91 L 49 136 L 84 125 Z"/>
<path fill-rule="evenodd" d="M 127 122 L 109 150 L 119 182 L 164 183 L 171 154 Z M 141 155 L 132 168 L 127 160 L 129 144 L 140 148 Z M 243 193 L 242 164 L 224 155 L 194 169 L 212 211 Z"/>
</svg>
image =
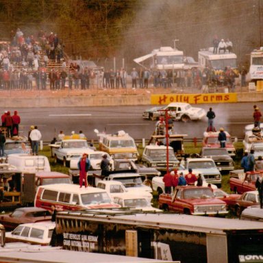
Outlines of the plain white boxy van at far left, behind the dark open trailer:
<svg viewBox="0 0 263 263">
<path fill-rule="evenodd" d="M 14 153 L 8 155 L 8 163 L 16 166 L 22 173 L 50 172 L 49 160 L 44 155 Z"/>
</svg>

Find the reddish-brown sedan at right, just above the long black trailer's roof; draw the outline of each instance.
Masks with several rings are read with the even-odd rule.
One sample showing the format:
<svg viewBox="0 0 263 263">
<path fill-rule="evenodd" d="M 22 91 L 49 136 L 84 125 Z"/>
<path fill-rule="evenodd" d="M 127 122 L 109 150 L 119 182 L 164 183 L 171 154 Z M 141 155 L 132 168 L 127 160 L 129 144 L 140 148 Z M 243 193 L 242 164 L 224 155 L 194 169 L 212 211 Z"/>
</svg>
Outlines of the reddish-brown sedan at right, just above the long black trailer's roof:
<svg viewBox="0 0 263 263">
<path fill-rule="evenodd" d="M 241 216 L 241 213 L 245 208 L 248 208 L 251 205 L 259 204 L 260 197 L 258 195 L 258 191 L 255 190 L 244 192 L 239 199 L 236 199 L 233 204 L 229 205 L 229 208 L 231 208 L 231 210 L 234 210 L 237 216 Z"/>
</svg>

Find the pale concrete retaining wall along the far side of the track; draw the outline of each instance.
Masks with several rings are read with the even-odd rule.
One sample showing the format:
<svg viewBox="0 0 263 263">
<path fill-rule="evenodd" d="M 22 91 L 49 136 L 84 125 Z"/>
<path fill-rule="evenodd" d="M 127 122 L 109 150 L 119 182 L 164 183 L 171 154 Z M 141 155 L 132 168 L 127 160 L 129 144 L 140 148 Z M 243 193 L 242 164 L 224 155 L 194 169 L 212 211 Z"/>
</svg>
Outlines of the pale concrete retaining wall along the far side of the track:
<svg viewBox="0 0 263 263">
<path fill-rule="evenodd" d="M 238 93 L 238 102 L 263 101 L 263 92 Z M 110 105 L 149 105 L 151 95 L 90 95 L 77 97 L 0 98 L 3 108 L 86 107 Z"/>
</svg>

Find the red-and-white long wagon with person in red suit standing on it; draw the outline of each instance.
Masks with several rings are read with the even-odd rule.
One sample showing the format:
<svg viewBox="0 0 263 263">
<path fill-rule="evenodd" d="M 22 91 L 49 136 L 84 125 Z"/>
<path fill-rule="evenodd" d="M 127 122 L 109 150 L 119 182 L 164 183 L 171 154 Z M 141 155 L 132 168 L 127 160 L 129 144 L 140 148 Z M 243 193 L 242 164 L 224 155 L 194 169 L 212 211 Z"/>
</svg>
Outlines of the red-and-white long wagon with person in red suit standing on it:
<svg viewBox="0 0 263 263">
<path fill-rule="evenodd" d="M 51 211 L 54 205 L 58 210 L 84 210 L 100 208 L 120 208 L 112 202 L 108 192 L 88 186 L 79 188 L 75 184 L 49 184 L 39 186 L 34 206 Z"/>
</svg>

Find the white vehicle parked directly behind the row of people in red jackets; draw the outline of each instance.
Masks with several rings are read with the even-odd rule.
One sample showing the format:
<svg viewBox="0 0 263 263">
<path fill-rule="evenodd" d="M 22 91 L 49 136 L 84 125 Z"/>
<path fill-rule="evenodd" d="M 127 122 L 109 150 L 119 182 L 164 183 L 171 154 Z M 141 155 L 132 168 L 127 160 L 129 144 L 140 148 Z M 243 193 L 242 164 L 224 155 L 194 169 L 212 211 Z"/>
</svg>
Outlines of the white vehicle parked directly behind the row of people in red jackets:
<svg viewBox="0 0 263 263">
<path fill-rule="evenodd" d="M 221 173 L 212 158 L 187 158 L 186 163 L 181 162 L 180 166 L 185 169 L 184 174 L 192 168 L 192 173 L 202 173 L 208 184 L 216 184 L 218 188 L 221 188 Z"/>
</svg>

